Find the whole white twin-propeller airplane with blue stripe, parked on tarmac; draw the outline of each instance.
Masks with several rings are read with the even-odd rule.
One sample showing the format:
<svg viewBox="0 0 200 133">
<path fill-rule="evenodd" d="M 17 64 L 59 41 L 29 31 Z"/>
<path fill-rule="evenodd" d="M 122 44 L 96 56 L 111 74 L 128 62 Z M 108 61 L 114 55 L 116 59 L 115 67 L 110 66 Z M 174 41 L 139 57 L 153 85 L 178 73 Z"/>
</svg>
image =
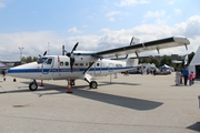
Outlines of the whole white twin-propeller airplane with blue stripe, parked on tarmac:
<svg viewBox="0 0 200 133">
<path fill-rule="evenodd" d="M 132 39 L 133 40 L 133 39 Z M 122 55 L 144 51 L 180 47 L 190 44 L 186 37 L 171 37 L 132 45 L 110 49 L 100 52 L 76 51 L 78 43 L 70 53 L 66 55 L 46 55 L 40 57 L 38 62 L 27 63 L 8 70 L 8 74 L 14 78 L 32 79 L 29 84 L 31 91 L 38 89 L 36 80 L 67 80 L 74 83 L 76 79 L 87 81 L 90 88 L 96 89 L 98 83 L 92 78 L 107 75 L 111 73 L 124 72 L 132 70 L 138 65 L 138 59 L 127 58 L 126 61 L 103 59 L 108 55 Z"/>
</svg>

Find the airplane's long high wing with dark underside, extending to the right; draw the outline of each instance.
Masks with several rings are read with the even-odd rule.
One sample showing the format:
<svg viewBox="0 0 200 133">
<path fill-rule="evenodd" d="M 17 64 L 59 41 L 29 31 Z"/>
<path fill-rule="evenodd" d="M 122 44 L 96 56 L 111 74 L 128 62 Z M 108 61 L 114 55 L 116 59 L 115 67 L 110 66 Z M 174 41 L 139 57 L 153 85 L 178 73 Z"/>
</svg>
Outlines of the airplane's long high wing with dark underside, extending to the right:
<svg viewBox="0 0 200 133">
<path fill-rule="evenodd" d="M 97 57 L 108 57 L 108 55 L 122 55 L 122 54 L 129 54 L 129 53 L 140 53 L 146 51 L 152 51 L 152 50 L 159 50 L 164 48 L 172 48 L 172 47 L 180 47 L 180 45 L 188 45 L 190 44 L 190 41 L 186 37 L 170 37 L 166 39 L 159 39 L 154 41 L 148 41 L 143 43 L 137 43 L 133 45 L 117 48 L 117 49 L 110 49 L 106 51 L 97 52 Z"/>
</svg>

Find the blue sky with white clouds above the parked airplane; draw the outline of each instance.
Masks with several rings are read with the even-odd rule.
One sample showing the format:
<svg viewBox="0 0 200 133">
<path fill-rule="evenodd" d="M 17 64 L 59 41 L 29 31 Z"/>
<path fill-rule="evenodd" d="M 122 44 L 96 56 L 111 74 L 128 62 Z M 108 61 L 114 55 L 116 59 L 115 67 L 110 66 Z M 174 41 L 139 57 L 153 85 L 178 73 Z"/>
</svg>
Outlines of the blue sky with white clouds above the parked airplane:
<svg viewBox="0 0 200 133">
<path fill-rule="evenodd" d="M 160 55 L 186 55 L 200 45 L 200 0 L 0 0 L 0 60 L 61 54 L 62 45 L 102 51 L 174 35 L 184 47 Z M 21 49 L 21 50 L 20 50 Z M 139 55 L 159 55 L 157 51 Z"/>
</svg>

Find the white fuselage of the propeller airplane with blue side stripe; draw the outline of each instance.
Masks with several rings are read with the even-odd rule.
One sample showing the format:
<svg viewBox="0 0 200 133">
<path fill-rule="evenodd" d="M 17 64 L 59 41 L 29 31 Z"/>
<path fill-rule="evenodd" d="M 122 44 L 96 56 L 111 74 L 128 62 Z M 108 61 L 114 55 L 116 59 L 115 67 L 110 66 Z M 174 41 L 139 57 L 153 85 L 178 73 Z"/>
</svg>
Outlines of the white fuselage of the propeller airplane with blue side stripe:
<svg viewBox="0 0 200 133">
<path fill-rule="evenodd" d="M 92 66 L 87 71 L 90 63 Z M 70 58 L 66 55 L 46 55 L 39 62 L 27 63 L 8 70 L 8 73 L 16 78 L 26 78 L 34 80 L 63 80 L 63 79 L 83 79 L 83 73 L 92 76 L 107 75 L 128 71 L 133 66 L 128 66 L 124 61 L 116 60 L 77 60 L 70 69 Z"/>
</svg>

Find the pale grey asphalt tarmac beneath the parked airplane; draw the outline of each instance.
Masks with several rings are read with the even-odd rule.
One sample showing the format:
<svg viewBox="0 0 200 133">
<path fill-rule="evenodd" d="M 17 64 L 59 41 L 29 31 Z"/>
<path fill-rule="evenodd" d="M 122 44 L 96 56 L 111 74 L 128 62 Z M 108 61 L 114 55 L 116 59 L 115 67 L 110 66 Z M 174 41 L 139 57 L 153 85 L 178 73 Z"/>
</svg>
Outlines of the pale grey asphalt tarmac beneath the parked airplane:
<svg viewBox="0 0 200 133">
<path fill-rule="evenodd" d="M 28 79 L 0 79 L 0 133 L 198 133 L 200 81 L 174 85 L 170 75 L 130 74 L 96 80 L 43 81 L 29 91 Z M 38 81 L 40 85 L 40 81 Z"/>
</svg>

